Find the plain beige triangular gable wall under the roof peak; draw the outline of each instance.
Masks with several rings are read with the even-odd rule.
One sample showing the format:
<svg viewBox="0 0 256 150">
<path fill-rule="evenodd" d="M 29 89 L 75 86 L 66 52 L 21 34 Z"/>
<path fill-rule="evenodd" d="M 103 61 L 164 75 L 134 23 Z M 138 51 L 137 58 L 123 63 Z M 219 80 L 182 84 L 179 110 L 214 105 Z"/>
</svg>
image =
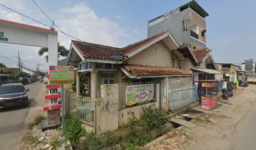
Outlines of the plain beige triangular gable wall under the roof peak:
<svg viewBox="0 0 256 150">
<path fill-rule="evenodd" d="M 142 64 L 148 66 L 174 67 L 173 54 L 163 42 L 157 42 L 147 47 L 140 53 L 132 56 L 130 64 Z"/>
</svg>

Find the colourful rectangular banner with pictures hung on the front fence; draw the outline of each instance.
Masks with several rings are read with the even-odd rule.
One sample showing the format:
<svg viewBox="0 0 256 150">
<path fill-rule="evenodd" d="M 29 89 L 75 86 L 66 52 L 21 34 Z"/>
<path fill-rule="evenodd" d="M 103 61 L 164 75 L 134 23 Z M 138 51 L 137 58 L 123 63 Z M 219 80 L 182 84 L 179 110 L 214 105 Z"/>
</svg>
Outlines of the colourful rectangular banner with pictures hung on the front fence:
<svg viewBox="0 0 256 150">
<path fill-rule="evenodd" d="M 142 84 L 136 86 L 125 86 L 126 106 L 151 101 L 154 99 L 154 84 Z"/>
</svg>

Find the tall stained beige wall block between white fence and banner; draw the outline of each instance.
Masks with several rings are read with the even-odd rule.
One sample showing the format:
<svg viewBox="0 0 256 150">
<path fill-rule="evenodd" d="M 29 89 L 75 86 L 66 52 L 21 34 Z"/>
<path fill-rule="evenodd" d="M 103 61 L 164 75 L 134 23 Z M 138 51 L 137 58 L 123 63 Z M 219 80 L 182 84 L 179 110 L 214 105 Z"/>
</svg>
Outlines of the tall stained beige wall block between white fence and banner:
<svg viewBox="0 0 256 150">
<path fill-rule="evenodd" d="M 118 128 L 118 84 L 101 85 L 101 98 L 97 99 L 97 134 Z"/>
</svg>

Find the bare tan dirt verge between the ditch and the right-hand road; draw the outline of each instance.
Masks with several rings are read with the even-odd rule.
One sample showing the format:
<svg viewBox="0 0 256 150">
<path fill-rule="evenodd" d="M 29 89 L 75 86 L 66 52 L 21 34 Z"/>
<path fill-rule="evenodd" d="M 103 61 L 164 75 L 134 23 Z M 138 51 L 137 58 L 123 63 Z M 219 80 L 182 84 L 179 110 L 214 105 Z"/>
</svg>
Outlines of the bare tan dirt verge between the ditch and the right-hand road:
<svg viewBox="0 0 256 150">
<path fill-rule="evenodd" d="M 154 143 L 150 149 L 233 149 L 230 140 L 237 133 L 237 123 L 247 114 L 256 101 L 256 85 L 237 88 L 233 98 L 219 99 L 218 107 L 212 111 L 196 106 L 186 114 L 199 117 L 191 120 L 198 126 L 194 129 L 181 128 L 177 134 Z M 175 133 L 175 132 L 174 132 Z"/>
</svg>

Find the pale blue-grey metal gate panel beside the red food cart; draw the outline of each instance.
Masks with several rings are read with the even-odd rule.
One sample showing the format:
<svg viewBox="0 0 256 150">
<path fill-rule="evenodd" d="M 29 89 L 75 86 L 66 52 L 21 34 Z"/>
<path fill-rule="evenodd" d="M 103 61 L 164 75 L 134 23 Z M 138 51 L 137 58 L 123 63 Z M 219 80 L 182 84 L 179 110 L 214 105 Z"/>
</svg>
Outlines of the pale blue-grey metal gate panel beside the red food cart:
<svg viewBox="0 0 256 150">
<path fill-rule="evenodd" d="M 195 85 L 192 88 L 177 89 L 171 91 L 171 111 L 189 106 L 196 103 L 198 97 L 197 88 Z"/>
</svg>

